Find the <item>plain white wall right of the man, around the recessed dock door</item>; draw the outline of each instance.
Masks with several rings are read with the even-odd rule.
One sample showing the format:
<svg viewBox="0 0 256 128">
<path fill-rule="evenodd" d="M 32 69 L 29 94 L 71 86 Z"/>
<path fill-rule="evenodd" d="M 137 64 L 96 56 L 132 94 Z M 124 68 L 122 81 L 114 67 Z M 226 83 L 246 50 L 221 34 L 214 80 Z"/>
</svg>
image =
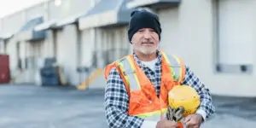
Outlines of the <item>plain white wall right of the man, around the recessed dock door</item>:
<svg viewBox="0 0 256 128">
<path fill-rule="evenodd" d="M 231 3 L 237 1 L 239 0 Z M 247 5 L 256 5 L 253 0 L 250 3 Z M 169 54 L 174 53 L 182 57 L 183 61 L 191 67 L 213 94 L 256 96 L 256 86 L 253 85 L 255 73 L 248 75 L 216 73 L 215 71 L 218 43 L 215 5 L 215 0 L 184 0 L 178 9 L 161 10 L 159 15 L 164 27 L 161 45 L 165 46 L 162 48 L 166 49 Z M 250 7 L 248 8 L 250 9 Z M 256 9 L 255 7 L 252 8 Z M 249 28 L 247 29 L 249 30 Z M 254 56 L 255 46 L 253 49 Z"/>
</svg>

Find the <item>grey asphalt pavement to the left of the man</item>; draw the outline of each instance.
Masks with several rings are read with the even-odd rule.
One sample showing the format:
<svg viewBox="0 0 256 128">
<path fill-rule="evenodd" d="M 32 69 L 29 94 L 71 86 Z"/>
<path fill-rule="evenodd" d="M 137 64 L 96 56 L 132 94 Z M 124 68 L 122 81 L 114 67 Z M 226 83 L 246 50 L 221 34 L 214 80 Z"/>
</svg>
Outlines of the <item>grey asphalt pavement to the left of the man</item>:
<svg viewBox="0 0 256 128">
<path fill-rule="evenodd" d="M 0 86 L 0 127 L 107 127 L 100 90 L 78 91 L 32 85 Z M 93 102 L 96 101 L 96 102 Z"/>
</svg>

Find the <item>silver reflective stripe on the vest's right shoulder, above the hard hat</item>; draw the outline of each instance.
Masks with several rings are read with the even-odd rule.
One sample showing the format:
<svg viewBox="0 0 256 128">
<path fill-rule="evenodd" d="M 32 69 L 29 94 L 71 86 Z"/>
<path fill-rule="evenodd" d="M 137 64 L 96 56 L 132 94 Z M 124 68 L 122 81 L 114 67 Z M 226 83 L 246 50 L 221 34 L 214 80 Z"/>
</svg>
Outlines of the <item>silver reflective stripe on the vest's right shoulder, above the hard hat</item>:
<svg viewBox="0 0 256 128">
<path fill-rule="evenodd" d="M 181 78 L 181 64 L 177 61 L 177 59 L 172 55 L 166 55 L 166 59 L 168 59 L 169 67 L 172 68 L 174 74 L 175 74 L 175 81 L 178 81 Z"/>
</svg>

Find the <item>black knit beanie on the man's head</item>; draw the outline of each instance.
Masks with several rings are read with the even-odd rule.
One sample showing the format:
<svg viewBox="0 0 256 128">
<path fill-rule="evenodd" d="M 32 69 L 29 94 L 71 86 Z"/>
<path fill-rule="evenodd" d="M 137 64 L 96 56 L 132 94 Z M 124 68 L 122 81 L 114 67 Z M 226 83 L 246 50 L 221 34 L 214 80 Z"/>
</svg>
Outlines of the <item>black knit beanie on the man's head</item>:
<svg viewBox="0 0 256 128">
<path fill-rule="evenodd" d="M 152 28 L 159 35 L 162 32 L 159 17 L 145 9 L 135 10 L 131 12 L 131 20 L 129 23 L 128 38 L 131 38 L 139 29 Z"/>
</svg>

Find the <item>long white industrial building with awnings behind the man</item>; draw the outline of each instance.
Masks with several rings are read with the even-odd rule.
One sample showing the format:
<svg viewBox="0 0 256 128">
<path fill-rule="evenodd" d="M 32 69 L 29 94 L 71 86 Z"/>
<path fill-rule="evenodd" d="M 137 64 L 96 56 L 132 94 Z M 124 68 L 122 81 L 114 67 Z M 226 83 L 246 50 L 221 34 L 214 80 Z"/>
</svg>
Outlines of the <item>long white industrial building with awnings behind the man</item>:
<svg viewBox="0 0 256 128">
<path fill-rule="evenodd" d="M 222 96 L 256 96 L 254 0 L 49 0 L 0 20 L 0 52 L 15 83 L 36 83 L 40 61 L 55 57 L 69 84 L 131 52 L 133 9 L 160 16 L 160 48 L 175 54 Z M 87 74 L 88 75 L 88 74 Z M 102 75 L 90 88 L 104 88 Z"/>
</svg>

